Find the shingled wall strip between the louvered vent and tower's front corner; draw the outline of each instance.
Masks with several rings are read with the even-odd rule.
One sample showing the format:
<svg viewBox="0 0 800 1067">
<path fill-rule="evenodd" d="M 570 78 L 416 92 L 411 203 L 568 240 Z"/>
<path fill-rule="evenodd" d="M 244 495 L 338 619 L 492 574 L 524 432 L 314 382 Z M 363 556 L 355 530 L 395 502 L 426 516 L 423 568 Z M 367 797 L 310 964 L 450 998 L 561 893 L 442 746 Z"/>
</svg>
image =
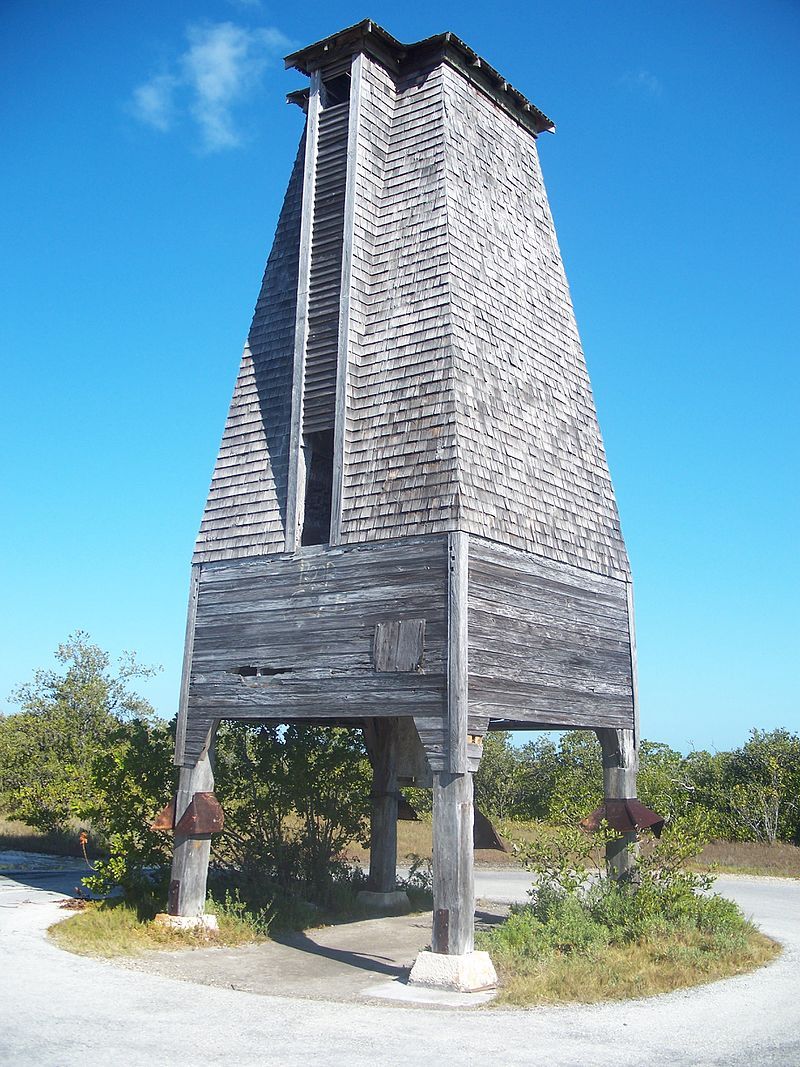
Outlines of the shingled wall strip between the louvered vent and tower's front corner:
<svg viewBox="0 0 800 1067">
<path fill-rule="evenodd" d="M 442 69 L 365 57 L 341 538 L 455 528 Z"/>
</svg>

